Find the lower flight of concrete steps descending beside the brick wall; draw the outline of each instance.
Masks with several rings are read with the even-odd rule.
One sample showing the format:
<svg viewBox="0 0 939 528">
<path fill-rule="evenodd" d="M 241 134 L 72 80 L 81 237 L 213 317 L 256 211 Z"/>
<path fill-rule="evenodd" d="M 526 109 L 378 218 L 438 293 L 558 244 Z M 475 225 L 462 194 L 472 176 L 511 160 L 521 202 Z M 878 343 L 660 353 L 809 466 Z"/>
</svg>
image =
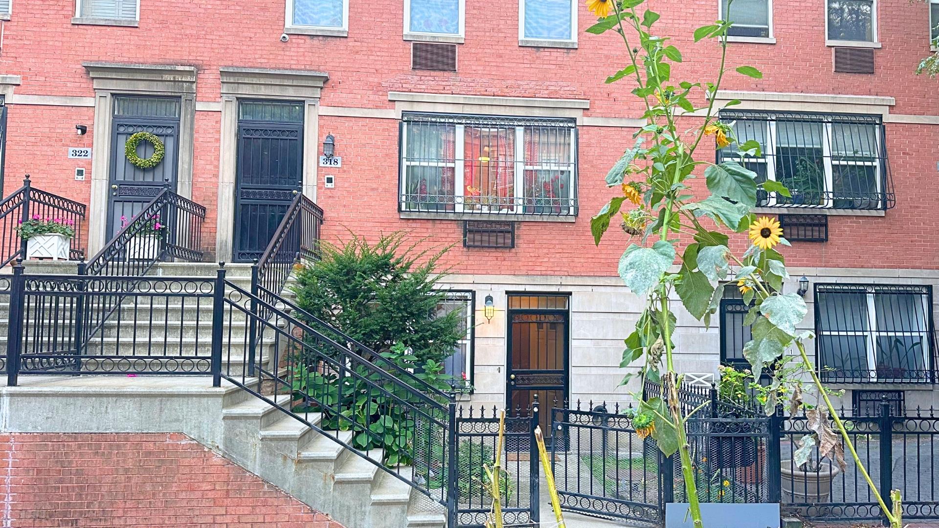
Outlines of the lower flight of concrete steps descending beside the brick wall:
<svg viewBox="0 0 939 528">
<path fill-rule="evenodd" d="M 289 404 L 290 396 L 276 397 L 279 404 Z M 320 424 L 318 413 L 301 416 Z M 428 501 L 420 492 L 372 461 L 381 459 L 380 451 L 369 452 L 369 460 L 330 438 L 349 443 L 350 431 L 317 432 L 257 397 L 226 405 L 223 420 L 224 445 L 219 447 L 228 458 L 346 528 L 446 525 L 442 513 L 420 511 L 418 505 Z"/>
</svg>

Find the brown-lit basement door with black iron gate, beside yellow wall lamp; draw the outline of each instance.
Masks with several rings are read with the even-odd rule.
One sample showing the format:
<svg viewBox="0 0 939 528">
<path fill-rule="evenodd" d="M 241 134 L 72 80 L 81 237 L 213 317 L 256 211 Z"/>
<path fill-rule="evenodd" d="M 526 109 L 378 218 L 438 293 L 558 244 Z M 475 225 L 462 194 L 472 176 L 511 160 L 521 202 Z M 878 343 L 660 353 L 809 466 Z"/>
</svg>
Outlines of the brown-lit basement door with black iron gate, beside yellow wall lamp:
<svg viewBox="0 0 939 528">
<path fill-rule="evenodd" d="M 540 404 L 539 425 L 551 437 L 552 407 L 567 402 L 570 374 L 570 325 L 566 295 L 510 294 L 506 399 L 510 412 L 527 415 L 534 397 Z"/>
</svg>

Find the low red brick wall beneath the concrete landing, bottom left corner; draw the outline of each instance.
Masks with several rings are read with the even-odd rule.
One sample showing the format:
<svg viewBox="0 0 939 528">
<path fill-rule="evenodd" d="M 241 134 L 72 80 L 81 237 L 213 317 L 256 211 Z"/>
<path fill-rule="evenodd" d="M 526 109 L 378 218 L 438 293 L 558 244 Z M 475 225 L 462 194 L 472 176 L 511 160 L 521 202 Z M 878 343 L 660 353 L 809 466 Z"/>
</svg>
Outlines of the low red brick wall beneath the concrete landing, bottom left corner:
<svg viewBox="0 0 939 528">
<path fill-rule="evenodd" d="M 4 526 L 342 528 L 178 433 L 0 435 Z"/>
</svg>

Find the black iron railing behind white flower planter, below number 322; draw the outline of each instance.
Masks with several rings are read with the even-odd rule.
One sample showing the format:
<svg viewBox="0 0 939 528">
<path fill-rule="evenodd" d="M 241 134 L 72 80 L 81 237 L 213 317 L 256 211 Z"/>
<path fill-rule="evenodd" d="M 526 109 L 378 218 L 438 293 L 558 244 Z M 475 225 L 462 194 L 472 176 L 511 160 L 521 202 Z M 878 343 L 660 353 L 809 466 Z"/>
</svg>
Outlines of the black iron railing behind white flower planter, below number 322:
<svg viewBox="0 0 939 528">
<path fill-rule="evenodd" d="M 0 268 L 26 257 L 26 241 L 17 229 L 28 220 L 59 220 L 75 230 L 69 241 L 69 259 L 85 256 L 85 204 L 33 187 L 29 175 L 23 187 L 0 201 Z"/>
</svg>

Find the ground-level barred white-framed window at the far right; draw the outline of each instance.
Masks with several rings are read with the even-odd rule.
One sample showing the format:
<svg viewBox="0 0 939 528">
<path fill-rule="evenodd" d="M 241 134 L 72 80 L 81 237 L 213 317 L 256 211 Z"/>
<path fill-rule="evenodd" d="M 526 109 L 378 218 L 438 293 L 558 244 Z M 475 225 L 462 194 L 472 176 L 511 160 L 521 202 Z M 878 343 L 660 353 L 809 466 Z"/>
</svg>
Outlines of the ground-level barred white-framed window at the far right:
<svg viewBox="0 0 939 528">
<path fill-rule="evenodd" d="M 817 365 L 840 382 L 933 382 L 932 289 L 815 285 Z"/>
</svg>

